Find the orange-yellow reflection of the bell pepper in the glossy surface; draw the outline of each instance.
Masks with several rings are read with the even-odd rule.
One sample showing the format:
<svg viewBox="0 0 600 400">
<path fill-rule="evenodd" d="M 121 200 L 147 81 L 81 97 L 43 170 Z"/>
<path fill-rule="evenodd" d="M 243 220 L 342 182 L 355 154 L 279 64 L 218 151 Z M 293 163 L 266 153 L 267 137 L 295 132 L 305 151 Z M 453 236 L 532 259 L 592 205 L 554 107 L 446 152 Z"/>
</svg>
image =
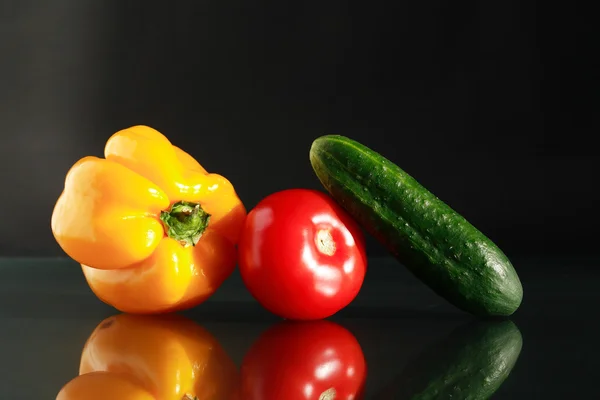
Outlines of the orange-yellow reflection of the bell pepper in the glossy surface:
<svg viewBox="0 0 600 400">
<path fill-rule="evenodd" d="M 57 400 L 229 400 L 238 385 L 217 340 L 176 315 L 104 320 L 83 349 L 79 373 Z"/>
</svg>

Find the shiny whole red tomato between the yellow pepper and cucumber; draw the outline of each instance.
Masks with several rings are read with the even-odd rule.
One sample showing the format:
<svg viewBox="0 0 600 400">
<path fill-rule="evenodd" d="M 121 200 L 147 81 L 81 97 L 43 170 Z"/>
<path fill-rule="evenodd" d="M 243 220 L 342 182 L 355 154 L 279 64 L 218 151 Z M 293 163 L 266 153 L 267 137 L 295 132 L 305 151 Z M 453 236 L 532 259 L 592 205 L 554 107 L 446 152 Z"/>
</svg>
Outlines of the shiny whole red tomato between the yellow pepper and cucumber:
<svg viewBox="0 0 600 400">
<path fill-rule="evenodd" d="M 248 214 L 238 248 L 246 287 L 283 318 L 329 317 L 354 300 L 365 277 L 360 228 L 316 190 L 264 198 Z"/>
</svg>

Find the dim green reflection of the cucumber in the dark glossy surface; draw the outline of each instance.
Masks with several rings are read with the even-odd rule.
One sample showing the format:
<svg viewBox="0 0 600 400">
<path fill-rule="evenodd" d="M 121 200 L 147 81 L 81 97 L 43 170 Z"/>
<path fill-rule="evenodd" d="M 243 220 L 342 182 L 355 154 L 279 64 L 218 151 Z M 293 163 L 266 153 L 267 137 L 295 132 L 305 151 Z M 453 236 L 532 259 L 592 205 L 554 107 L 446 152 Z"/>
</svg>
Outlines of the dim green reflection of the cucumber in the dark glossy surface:
<svg viewBox="0 0 600 400">
<path fill-rule="evenodd" d="M 522 344 L 511 321 L 461 326 L 409 362 L 375 399 L 488 399 L 510 374 Z"/>
</svg>

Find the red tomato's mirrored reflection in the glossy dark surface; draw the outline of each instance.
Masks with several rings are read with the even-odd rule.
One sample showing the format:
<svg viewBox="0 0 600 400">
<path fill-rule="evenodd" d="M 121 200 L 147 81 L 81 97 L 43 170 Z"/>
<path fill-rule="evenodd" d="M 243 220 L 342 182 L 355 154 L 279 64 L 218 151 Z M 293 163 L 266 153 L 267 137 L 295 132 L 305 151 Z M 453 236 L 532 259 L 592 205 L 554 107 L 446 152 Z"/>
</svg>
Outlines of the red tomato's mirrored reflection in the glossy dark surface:
<svg viewBox="0 0 600 400">
<path fill-rule="evenodd" d="M 358 400 L 366 363 L 356 338 L 330 321 L 281 322 L 242 363 L 244 400 Z"/>
</svg>

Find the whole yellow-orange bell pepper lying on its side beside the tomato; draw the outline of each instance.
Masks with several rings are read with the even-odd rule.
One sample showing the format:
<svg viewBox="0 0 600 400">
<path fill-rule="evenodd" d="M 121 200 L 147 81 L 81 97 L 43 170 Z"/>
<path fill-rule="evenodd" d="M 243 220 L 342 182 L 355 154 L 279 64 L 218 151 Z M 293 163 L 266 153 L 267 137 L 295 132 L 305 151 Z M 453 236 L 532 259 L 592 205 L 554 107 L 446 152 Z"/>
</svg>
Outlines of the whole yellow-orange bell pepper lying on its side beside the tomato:
<svg viewBox="0 0 600 400">
<path fill-rule="evenodd" d="M 96 295 L 131 313 L 193 307 L 231 274 L 246 210 L 231 183 L 134 126 L 70 169 L 52 214 Z"/>
</svg>

